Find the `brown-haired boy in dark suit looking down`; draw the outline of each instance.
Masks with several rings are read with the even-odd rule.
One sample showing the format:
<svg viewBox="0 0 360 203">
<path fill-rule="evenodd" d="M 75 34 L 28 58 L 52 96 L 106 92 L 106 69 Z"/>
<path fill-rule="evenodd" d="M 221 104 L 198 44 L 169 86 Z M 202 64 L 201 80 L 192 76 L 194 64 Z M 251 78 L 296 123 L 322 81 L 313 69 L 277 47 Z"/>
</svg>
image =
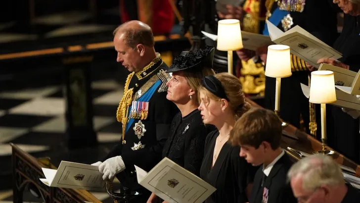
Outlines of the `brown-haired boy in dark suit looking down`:
<svg viewBox="0 0 360 203">
<path fill-rule="evenodd" d="M 249 203 L 297 203 L 286 175 L 292 165 L 280 148 L 282 127 L 273 111 L 252 108 L 230 132 L 229 141 L 240 146 L 240 156 L 260 167 L 255 175 Z"/>
</svg>

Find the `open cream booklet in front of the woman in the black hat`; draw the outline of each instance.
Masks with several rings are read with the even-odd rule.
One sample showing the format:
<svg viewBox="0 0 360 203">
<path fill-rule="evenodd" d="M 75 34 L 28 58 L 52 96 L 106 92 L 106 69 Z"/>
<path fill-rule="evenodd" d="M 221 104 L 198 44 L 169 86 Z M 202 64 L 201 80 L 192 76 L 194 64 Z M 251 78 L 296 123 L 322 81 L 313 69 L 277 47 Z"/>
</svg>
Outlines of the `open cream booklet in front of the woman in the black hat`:
<svg viewBox="0 0 360 203">
<path fill-rule="evenodd" d="M 203 203 L 216 191 L 167 157 L 148 173 L 136 165 L 135 169 L 137 182 L 169 203 Z"/>
</svg>

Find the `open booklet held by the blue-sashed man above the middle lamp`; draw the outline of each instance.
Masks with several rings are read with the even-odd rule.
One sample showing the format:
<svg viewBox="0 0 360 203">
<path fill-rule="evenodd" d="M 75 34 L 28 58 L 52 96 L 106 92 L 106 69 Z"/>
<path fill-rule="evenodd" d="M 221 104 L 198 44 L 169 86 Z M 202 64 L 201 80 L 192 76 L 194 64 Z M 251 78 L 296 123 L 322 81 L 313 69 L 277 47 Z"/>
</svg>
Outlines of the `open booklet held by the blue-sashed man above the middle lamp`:
<svg viewBox="0 0 360 203">
<path fill-rule="evenodd" d="M 291 53 L 318 68 L 317 60 L 320 58 L 339 59 L 342 54 L 326 45 L 314 35 L 300 26 L 295 26 L 286 32 L 282 32 L 270 21 L 266 21 L 272 42 L 278 45 L 287 45 Z"/>
</svg>

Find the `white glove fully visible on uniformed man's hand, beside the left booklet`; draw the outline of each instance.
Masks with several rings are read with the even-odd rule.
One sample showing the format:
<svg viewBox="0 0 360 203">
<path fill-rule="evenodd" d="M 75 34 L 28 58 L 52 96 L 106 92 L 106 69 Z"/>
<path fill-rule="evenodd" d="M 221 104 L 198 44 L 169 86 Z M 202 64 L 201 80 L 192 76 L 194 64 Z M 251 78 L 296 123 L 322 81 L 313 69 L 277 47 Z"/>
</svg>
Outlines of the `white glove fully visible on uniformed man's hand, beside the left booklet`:
<svg viewBox="0 0 360 203">
<path fill-rule="evenodd" d="M 103 174 L 102 179 L 111 180 L 115 175 L 125 169 L 125 163 L 121 156 L 106 159 L 99 165 L 99 172 Z"/>
</svg>

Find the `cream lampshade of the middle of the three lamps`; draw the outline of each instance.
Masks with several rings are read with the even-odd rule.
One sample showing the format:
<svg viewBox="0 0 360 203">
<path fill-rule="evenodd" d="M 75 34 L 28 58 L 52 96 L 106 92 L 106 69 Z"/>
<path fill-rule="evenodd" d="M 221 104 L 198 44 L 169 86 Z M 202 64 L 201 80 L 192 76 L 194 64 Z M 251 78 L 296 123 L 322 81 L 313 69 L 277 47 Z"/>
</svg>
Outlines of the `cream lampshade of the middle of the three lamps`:
<svg viewBox="0 0 360 203">
<path fill-rule="evenodd" d="M 265 75 L 271 78 L 291 76 L 290 47 L 286 45 L 270 45 L 266 59 Z"/>
</svg>

